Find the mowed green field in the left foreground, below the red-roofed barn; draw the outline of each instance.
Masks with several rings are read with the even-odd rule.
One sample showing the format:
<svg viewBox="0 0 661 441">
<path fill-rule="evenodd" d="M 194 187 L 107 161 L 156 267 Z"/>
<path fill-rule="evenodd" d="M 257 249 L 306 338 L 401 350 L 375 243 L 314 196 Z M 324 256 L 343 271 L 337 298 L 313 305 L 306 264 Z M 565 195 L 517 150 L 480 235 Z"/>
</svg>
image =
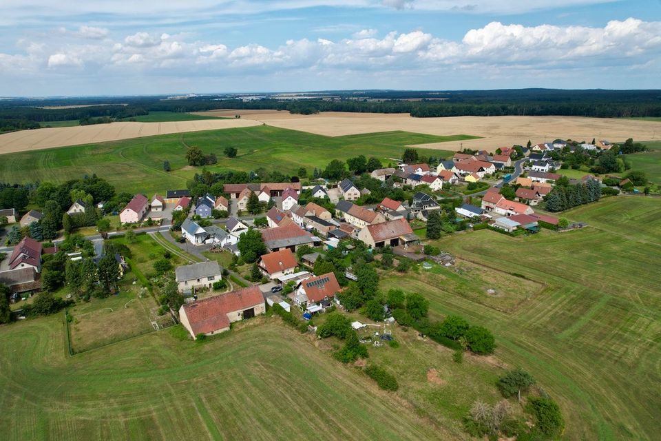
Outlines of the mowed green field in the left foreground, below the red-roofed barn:
<svg viewBox="0 0 661 441">
<path fill-rule="evenodd" d="M 5 440 L 432 440 L 435 428 L 312 340 L 257 318 L 204 344 L 152 332 L 66 355 L 63 314 L 0 329 Z"/>
</svg>

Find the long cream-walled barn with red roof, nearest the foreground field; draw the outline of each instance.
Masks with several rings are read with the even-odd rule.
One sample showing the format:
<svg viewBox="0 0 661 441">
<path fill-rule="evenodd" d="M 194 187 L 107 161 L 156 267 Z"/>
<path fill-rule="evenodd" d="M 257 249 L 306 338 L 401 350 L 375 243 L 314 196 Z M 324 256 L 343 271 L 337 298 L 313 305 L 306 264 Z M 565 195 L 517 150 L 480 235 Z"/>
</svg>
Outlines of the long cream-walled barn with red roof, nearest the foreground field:
<svg viewBox="0 0 661 441">
<path fill-rule="evenodd" d="M 193 338 L 229 331 L 230 323 L 266 312 L 260 287 L 253 286 L 182 305 L 179 319 Z"/>
</svg>

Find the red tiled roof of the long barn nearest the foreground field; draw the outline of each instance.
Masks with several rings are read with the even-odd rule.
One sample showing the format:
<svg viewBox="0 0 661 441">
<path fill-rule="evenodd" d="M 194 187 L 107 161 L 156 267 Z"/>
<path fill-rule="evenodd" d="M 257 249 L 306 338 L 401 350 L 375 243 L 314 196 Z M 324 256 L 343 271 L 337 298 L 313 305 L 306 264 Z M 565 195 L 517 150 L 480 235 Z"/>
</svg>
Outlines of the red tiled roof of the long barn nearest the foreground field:
<svg viewBox="0 0 661 441">
<path fill-rule="evenodd" d="M 183 305 L 193 334 L 209 334 L 229 327 L 227 314 L 264 303 L 260 287 L 253 286 Z"/>
</svg>

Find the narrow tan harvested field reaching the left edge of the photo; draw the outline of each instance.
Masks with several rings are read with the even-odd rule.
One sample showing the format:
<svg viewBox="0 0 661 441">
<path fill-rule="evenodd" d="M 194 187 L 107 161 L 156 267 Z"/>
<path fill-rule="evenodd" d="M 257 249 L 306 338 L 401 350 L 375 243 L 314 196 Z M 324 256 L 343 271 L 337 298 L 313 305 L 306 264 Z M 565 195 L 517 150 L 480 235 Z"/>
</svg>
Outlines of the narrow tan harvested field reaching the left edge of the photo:
<svg viewBox="0 0 661 441">
<path fill-rule="evenodd" d="M 81 145 L 118 141 L 182 132 L 229 129 L 259 125 L 252 119 L 205 119 L 199 121 L 169 121 L 165 123 L 122 122 L 82 125 L 76 127 L 50 127 L 21 130 L 0 135 L 0 154 L 41 150 L 65 145 Z"/>
</svg>

